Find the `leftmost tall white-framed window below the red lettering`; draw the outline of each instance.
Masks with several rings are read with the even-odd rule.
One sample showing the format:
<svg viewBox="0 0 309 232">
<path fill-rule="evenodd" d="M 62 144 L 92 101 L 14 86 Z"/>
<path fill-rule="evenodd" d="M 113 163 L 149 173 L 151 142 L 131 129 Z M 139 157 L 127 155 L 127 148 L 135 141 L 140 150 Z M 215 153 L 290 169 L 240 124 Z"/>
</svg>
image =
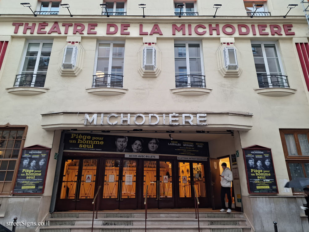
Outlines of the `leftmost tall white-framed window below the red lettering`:
<svg viewBox="0 0 309 232">
<path fill-rule="evenodd" d="M 21 71 L 16 75 L 14 87 L 44 87 L 53 43 L 27 42 Z"/>
</svg>

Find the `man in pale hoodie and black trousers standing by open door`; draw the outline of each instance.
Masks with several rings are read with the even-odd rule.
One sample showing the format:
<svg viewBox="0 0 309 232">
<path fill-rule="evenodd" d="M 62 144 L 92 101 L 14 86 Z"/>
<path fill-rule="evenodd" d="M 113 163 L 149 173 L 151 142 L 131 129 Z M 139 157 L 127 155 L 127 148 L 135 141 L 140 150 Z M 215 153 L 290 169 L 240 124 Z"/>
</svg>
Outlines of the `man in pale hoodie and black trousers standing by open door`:
<svg viewBox="0 0 309 232">
<path fill-rule="evenodd" d="M 225 212 L 226 206 L 225 206 L 225 195 L 227 195 L 228 202 L 228 208 L 226 213 L 231 213 L 232 210 L 232 197 L 231 197 L 231 186 L 232 186 L 232 180 L 233 180 L 233 174 L 229 168 L 227 168 L 226 163 L 221 164 L 223 172 L 220 175 L 221 176 L 221 204 L 222 209 L 220 212 Z"/>
</svg>

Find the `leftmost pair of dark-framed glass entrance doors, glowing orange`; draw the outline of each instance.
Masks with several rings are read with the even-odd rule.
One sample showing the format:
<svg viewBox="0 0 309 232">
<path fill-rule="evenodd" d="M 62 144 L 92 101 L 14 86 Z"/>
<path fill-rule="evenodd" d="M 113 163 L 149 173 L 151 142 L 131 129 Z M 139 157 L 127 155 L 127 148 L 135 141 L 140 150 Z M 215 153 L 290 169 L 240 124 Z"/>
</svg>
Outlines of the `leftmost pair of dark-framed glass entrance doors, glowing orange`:
<svg viewBox="0 0 309 232">
<path fill-rule="evenodd" d="M 65 159 L 62 163 L 56 209 L 91 210 L 95 195 L 98 159 Z"/>
</svg>

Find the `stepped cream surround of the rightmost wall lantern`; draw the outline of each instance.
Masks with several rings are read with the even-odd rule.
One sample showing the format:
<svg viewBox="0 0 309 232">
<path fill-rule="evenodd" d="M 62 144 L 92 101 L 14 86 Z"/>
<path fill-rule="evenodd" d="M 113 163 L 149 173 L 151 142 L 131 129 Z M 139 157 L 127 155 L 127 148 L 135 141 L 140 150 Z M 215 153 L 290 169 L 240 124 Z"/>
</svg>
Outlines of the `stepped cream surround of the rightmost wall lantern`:
<svg viewBox="0 0 309 232">
<path fill-rule="evenodd" d="M 226 48 L 234 49 L 234 52 L 236 55 L 236 61 L 237 61 L 236 69 L 227 69 L 225 65 L 224 49 Z M 240 60 L 240 53 L 239 53 L 238 48 L 235 46 L 234 42 L 222 42 L 218 50 L 216 51 L 216 54 L 218 58 L 218 69 L 223 77 L 239 77 L 240 76 L 243 69 L 242 69 L 241 60 Z"/>
</svg>

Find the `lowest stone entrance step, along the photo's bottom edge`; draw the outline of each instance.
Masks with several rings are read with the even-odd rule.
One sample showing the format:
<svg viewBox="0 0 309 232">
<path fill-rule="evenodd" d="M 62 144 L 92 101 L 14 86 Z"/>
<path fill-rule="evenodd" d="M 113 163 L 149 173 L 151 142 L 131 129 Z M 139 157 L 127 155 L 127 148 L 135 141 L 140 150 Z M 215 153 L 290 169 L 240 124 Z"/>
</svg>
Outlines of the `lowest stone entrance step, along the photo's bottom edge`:
<svg viewBox="0 0 309 232">
<path fill-rule="evenodd" d="M 143 232 L 145 225 L 141 226 L 94 226 L 93 232 Z M 200 226 L 200 232 L 250 232 L 250 226 Z M 90 232 L 91 226 L 45 226 L 40 228 L 40 232 Z M 148 232 L 196 232 L 198 231 L 197 225 L 186 226 L 147 226 Z"/>
</svg>

